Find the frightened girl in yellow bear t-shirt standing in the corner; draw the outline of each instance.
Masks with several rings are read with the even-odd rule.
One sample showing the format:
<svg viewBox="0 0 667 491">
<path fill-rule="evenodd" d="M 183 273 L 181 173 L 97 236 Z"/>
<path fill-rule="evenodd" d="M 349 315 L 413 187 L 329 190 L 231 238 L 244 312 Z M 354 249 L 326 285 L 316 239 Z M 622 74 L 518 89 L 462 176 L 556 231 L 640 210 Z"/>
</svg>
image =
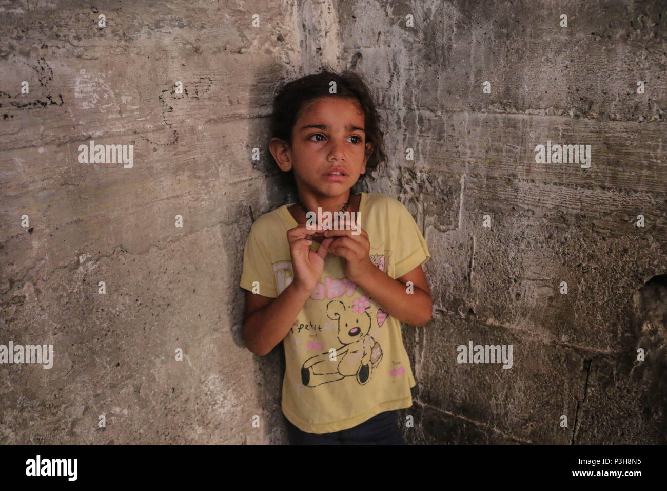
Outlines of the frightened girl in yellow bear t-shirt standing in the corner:
<svg viewBox="0 0 667 491">
<path fill-rule="evenodd" d="M 283 342 L 291 444 L 404 444 L 396 410 L 412 405 L 415 380 L 400 322 L 431 319 L 430 254 L 401 202 L 351 192 L 385 160 L 372 96 L 355 73 L 301 77 L 276 96 L 271 136 L 298 198 L 251 226 L 245 343 L 266 355 Z"/>
</svg>

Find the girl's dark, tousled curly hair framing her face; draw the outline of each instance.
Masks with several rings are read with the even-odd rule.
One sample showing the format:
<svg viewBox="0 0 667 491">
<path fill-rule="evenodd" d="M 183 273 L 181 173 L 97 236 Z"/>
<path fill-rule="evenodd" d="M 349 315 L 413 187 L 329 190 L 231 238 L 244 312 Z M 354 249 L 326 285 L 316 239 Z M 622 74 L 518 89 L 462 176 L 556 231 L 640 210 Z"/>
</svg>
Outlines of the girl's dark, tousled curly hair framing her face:
<svg viewBox="0 0 667 491">
<path fill-rule="evenodd" d="M 329 94 L 329 83 L 331 81 L 336 82 L 336 94 Z M 380 116 L 376 110 L 372 93 L 364 78 L 353 71 L 344 71 L 338 74 L 330 67 L 325 67 L 319 73 L 305 75 L 285 84 L 273 99 L 270 138 L 280 138 L 291 145 L 292 131 L 303 106 L 312 100 L 323 97 L 355 99 L 358 102 L 360 108 L 364 111 L 366 143 L 373 144 L 373 152 L 366 162 L 366 172 L 368 173 L 369 170 L 376 168 L 380 162 L 385 162 L 387 156 L 384 151 L 384 132 L 380 130 Z M 268 153 L 271 155 L 271 152 Z M 277 167 L 273 155 L 271 155 L 271 160 Z M 289 174 L 286 179 L 283 176 L 283 182 L 294 184 L 294 176 L 291 170 L 289 172 L 281 171 L 280 174 Z M 362 174 L 360 180 L 364 176 L 366 174 Z"/>
</svg>

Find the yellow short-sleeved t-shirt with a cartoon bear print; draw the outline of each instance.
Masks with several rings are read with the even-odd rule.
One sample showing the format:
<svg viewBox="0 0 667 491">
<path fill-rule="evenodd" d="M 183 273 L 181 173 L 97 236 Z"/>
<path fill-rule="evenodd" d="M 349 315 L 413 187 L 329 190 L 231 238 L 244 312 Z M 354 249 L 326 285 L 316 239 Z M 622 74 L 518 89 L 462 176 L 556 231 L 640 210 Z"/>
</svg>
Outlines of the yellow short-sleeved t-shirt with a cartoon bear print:
<svg viewBox="0 0 667 491">
<path fill-rule="evenodd" d="M 252 224 L 243 251 L 240 286 L 277 297 L 293 279 L 287 230 L 297 222 L 287 208 Z M 358 224 L 370 239 L 376 267 L 396 279 L 430 259 L 414 218 L 398 200 L 362 192 Z M 311 249 L 319 243 L 313 240 Z M 347 430 L 385 411 L 412 405 L 415 379 L 398 319 L 387 315 L 345 277 L 346 261 L 328 253 L 319 283 L 283 339 L 282 410 L 307 433 Z M 331 360 L 335 349 L 336 360 Z"/>
</svg>

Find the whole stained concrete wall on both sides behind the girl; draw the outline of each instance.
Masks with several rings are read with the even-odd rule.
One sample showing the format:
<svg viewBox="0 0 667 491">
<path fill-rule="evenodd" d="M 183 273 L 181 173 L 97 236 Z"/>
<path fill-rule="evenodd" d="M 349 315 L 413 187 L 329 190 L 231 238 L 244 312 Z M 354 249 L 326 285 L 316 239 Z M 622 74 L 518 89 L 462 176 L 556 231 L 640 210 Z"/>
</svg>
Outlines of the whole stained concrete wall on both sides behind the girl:
<svg viewBox="0 0 667 491">
<path fill-rule="evenodd" d="M 285 442 L 282 353 L 245 349 L 237 285 L 253 219 L 286 200 L 275 88 L 322 63 L 372 80 L 389 158 L 362 188 L 400 198 L 432 253 L 434 317 L 404 327 L 408 442 L 666 442 L 664 3 L 0 13 L 0 344 L 54 357 L 0 365 L 0 443 Z M 89 140 L 132 144 L 133 167 L 80 163 Z M 590 168 L 536 162 L 547 140 L 590 144 Z M 457 363 L 468 341 L 512 345 L 512 368 Z"/>
</svg>

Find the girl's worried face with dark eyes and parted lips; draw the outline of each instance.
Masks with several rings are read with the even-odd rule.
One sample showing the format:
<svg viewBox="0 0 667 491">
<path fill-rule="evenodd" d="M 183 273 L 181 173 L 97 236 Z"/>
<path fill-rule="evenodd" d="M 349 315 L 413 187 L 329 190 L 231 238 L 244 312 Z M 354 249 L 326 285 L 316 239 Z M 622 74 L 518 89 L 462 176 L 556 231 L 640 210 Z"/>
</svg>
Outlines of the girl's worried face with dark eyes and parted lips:
<svg viewBox="0 0 667 491">
<path fill-rule="evenodd" d="M 288 151 L 299 191 L 340 196 L 366 172 L 373 148 L 366 143 L 364 112 L 356 104 L 352 99 L 325 97 L 303 106 Z M 344 175 L 330 175 L 335 171 Z"/>
</svg>

